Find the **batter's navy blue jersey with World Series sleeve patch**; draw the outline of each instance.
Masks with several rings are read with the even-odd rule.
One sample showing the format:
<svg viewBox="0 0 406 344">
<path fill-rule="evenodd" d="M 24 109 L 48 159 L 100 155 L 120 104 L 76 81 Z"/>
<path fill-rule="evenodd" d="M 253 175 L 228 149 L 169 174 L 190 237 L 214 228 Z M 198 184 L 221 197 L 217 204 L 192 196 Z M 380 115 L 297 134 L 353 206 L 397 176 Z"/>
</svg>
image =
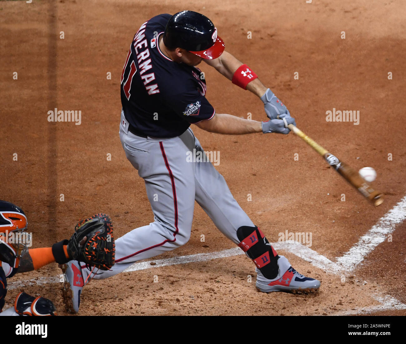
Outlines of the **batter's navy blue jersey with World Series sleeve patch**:
<svg viewBox="0 0 406 344">
<path fill-rule="evenodd" d="M 170 14 L 145 22 L 135 34 L 121 74 L 121 104 L 127 121 L 145 136 L 170 138 L 191 123 L 211 119 L 200 69 L 166 57 L 158 46 Z"/>
</svg>

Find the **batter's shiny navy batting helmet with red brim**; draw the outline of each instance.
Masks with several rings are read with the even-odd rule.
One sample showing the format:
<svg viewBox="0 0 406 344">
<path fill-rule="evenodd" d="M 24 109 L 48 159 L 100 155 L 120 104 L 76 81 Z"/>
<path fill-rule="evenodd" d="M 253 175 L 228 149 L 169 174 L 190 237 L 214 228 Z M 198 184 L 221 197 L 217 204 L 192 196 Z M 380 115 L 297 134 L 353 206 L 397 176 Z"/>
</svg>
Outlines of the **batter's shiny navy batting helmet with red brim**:
<svg viewBox="0 0 406 344">
<path fill-rule="evenodd" d="M 164 44 L 170 49 L 186 49 L 208 60 L 218 58 L 225 47 L 224 41 L 217 36 L 217 29 L 212 21 L 193 11 L 181 11 L 169 19 Z"/>
</svg>

